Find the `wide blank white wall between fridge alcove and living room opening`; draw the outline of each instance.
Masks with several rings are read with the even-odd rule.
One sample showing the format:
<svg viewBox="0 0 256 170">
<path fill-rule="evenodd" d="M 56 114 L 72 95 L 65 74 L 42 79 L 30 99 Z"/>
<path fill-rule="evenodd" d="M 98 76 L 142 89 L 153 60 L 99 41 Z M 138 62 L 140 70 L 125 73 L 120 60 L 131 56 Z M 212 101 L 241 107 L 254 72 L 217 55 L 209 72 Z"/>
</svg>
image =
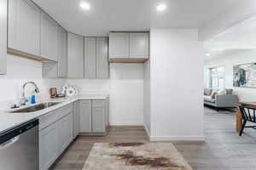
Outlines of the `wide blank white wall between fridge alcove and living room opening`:
<svg viewBox="0 0 256 170">
<path fill-rule="evenodd" d="M 203 140 L 203 46 L 195 29 L 150 31 L 152 140 Z"/>
</svg>

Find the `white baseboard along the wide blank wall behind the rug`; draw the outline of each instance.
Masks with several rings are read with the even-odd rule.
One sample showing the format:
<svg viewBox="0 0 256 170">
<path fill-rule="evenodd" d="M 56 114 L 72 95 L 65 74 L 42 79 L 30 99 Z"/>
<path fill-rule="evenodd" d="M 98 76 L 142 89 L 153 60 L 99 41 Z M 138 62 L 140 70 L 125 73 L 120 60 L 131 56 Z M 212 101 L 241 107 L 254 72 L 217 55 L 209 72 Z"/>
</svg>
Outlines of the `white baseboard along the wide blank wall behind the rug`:
<svg viewBox="0 0 256 170">
<path fill-rule="evenodd" d="M 150 141 L 205 141 L 205 136 L 150 136 Z"/>
</svg>

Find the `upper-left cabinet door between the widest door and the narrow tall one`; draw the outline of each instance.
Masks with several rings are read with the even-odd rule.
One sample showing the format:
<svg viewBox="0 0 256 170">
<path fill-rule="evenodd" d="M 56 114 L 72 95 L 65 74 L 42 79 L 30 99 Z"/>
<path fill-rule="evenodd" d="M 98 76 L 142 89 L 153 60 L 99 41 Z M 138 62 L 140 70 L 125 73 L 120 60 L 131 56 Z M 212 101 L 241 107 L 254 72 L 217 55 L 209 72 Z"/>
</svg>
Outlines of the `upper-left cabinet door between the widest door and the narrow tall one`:
<svg viewBox="0 0 256 170">
<path fill-rule="evenodd" d="M 57 61 L 57 29 L 54 20 L 41 12 L 41 57 Z"/>
</svg>

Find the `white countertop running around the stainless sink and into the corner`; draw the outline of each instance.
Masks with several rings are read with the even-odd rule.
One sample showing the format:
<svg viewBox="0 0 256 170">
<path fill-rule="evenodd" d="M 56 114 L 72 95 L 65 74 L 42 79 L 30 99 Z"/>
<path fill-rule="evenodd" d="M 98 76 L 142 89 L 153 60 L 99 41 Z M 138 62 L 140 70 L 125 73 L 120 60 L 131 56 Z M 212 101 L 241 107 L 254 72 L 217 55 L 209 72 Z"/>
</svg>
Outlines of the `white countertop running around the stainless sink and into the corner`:
<svg viewBox="0 0 256 170">
<path fill-rule="evenodd" d="M 107 98 L 108 98 L 108 95 L 84 94 L 84 95 L 68 97 L 68 98 L 45 100 L 44 102 L 55 101 L 55 102 L 61 102 L 61 103 L 58 105 L 50 106 L 49 108 L 43 109 L 41 111 L 35 111 L 35 112 L 30 112 L 30 113 L 10 113 L 10 111 L 20 110 L 20 109 L 26 108 L 30 105 L 20 107 L 19 109 L 10 109 L 9 111 L 0 111 L 0 133 L 3 133 L 4 131 L 8 130 L 9 128 L 18 126 L 24 122 L 28 122 L 34 118 L 38 118 L 39 116 L 43 116 L 43 115 L 49 113 L 50 111 L 59 109 L 62 106 L 73 103 L 79 99 L 107 99 Z M 36 105 L 38 105 L 38 104 L 36 104 Z"/>
</svg>

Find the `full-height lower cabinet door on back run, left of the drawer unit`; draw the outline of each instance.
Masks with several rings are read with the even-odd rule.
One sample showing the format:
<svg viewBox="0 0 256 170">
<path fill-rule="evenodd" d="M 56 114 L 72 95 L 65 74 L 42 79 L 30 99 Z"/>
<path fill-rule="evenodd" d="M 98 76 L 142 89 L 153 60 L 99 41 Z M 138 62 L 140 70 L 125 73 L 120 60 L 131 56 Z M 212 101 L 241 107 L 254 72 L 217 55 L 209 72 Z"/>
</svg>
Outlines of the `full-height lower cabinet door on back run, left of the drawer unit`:
<svg viewBox="0 0 256 170">
<path fill-rule="evenodd" d="M 91 133 L 91 100 L 80 100 L 80 133 Z"/>
</svg>

